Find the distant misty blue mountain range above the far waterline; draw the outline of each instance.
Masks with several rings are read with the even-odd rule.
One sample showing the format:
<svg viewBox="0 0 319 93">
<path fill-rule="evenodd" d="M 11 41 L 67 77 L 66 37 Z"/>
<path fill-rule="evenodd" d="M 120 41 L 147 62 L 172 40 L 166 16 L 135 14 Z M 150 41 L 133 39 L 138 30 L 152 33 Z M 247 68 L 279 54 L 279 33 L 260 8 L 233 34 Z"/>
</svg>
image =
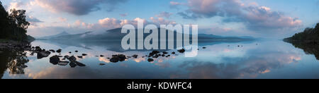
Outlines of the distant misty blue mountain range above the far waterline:
<svg viewBox="0 0 319 93">
<path fill-rule="evenodd" d="M 68 39 L 68 40 L 81 40 L 81 41 L 116 41 L 121 40 L 126 34 L 121 33 L 122 28 L 116 28 L 113 30 L 107 30 L 106 32 L 102 32 L 96 34 L 94 32 L 84 32 L 81 34 L 70 35 L 67 32 L 62 32 L 57 35 L 47 36 L 47 37 L 39 37 L 37 39 L 47 39 L 47 40 L 60 40 L 60 39 Z M 176 34 L 176 32 L 175 32 Z M 147 34 L 144 35 L 147 37 Z M 223 37 L 218 35 L 205 35 L 198 34 L 198 40 L 219 40 L 219 41 L 247 41 L 253 40 L 254 37 Z"/>
</svg>

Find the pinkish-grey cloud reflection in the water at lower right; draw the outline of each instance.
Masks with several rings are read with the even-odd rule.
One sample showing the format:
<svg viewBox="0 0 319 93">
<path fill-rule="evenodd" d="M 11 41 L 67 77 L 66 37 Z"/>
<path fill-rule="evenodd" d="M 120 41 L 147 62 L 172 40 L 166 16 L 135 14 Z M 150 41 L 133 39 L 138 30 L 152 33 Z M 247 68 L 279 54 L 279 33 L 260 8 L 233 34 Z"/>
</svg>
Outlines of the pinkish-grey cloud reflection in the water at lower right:
<svg viewBox="0 0 319 93">
<path fill-rule="evenodd" d="M 206 61 L 185 61 L 179 67 L 186 68 L 188 75 L 171 77 L 186 77 L 196 79 L 211 78 L 254 78 L 259 74 L 270 73 L 272 69 L 283 68 L 290 63 L 301 61 L 297 54 L 284 52 L 247 55 L 247 58 L 224 57 L 224 63 Z"/>
</svg>

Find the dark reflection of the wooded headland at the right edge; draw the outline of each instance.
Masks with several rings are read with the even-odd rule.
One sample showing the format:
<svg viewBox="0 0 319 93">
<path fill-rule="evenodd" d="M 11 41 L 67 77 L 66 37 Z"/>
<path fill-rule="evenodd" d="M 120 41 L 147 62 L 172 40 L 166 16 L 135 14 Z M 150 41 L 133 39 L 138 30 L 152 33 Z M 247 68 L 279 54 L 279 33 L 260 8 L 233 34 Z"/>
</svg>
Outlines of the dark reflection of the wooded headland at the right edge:
<svg viewBox="0 0 319 93">
<path fill-rule="evenodd" d="M 301 42 L 290 42 L 296 48 L 303 49 L 306 54 L 313 54 L 319 60 L 319 44 L 305 44 Z"/>
</svg>

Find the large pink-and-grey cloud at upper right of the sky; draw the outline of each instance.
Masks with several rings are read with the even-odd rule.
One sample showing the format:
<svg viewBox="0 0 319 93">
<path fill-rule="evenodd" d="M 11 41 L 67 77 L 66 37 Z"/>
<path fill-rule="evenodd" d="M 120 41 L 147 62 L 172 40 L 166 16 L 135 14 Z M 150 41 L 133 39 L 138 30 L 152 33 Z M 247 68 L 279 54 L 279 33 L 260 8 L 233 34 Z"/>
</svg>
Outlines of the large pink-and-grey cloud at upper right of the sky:
<svg viewBox="0 0 319 93">
<path fill-rule="evenodd" d="M 240 0 L 188 0 L 188 9 L 178 13 L 184 19 L 223 17 L 224 23 L 244 23 L 249 30 L 274 30 L 298 27 L 302 21 L 272 11 L 257 3 L 244 4 Z"/>
</svg>

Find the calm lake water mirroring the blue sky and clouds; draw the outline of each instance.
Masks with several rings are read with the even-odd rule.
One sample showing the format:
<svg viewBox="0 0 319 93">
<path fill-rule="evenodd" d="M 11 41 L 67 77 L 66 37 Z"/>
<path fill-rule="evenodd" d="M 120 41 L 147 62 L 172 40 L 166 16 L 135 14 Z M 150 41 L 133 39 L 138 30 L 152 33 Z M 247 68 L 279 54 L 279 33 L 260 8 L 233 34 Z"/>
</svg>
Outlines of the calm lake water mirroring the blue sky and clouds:
<svg viewBox="0 0 319 93">
<path fill-rule="evenodd" d="M 150 51 L 123 51 L 120 45 L 104 43 L 35 41 L 33 46 L 62 49 L 62 56 L 88 54 L 78 61 L 85 67 L 55 66 L 48 58 L 37 59 L 27 52 L 0 52 L 1 78 L 120 78 L 120 79 L 202 79 L 202 78 L 319 78 L 318 46 L 298 46 L 280 40 L 255 42 L 202 42 L 198 56 L 185 58 L 183 54 L 169 58 L 155 58 L 150 63 L 142 58 Z M 240 47 L 238 47 L 240 45 Z M 303 50 L 305 49 L 305 50 Z M 79 53 L 69 54 L 78 50 Z M 176 50 L 171 50 L 169 53 Z M 111 63 L 112 54 L 138 58 Z M 105 57 L 96 57 L 104 55 Z M 100 66 L 105 63 L 105 66 Z"/>
</svg>

